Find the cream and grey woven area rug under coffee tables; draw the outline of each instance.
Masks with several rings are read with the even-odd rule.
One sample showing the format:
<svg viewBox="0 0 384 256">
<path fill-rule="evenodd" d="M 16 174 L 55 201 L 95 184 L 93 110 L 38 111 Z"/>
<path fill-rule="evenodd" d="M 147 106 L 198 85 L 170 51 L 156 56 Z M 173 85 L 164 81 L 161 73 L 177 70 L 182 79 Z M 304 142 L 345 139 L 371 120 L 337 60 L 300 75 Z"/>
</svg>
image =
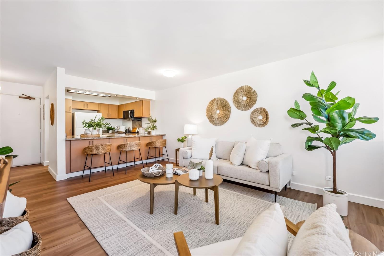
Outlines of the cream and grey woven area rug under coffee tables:
<svg viewBox="0 0 384 256">
<path fill-rule="evenodd" d="M 243 236 L 253 220 L 273 203 L 274 195 L 223 182 L 219 187 L 220 225 L 215 224 L 214 194 L 179 187 L 174 215 L 174 185 L 154 192 L 154 214 L 149 214 L 149 184 L 131 181 L 67 199 L 109 256 L 177 255 L 173 233 L 183 231 L 189 248 Z M 286 218 L 305 220 L 316 204 L 277 198 Z M 292 237 L 290 237 L 290 241 Z"/>
</svg>

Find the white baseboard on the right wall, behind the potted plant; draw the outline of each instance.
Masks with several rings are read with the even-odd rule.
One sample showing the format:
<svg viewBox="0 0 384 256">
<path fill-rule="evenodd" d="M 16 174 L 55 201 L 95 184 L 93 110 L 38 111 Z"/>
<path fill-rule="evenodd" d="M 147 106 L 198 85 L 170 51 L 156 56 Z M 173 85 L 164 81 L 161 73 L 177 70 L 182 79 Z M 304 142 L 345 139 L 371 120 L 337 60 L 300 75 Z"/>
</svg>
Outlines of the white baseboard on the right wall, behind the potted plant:
<svg viewBox="0 0 384 256">
<path fill-rule="evenodd" d="M 323 195 L 323 188 L 321 187 L 315 187 L 311 185 L 305 185 L 301 183 L 291 182 L 291 188 L 310 192 L 313 194 Z M 348 195 L 348 201 L 354 202 L 354 203 L 361 203 L 373 207 L 378 207 L 384 209 L 384 199 L 374 198 L 374 197 L 367 197 L 365 195 L 357 195 L 357 194 L 351 194 Z"/>
</svg>

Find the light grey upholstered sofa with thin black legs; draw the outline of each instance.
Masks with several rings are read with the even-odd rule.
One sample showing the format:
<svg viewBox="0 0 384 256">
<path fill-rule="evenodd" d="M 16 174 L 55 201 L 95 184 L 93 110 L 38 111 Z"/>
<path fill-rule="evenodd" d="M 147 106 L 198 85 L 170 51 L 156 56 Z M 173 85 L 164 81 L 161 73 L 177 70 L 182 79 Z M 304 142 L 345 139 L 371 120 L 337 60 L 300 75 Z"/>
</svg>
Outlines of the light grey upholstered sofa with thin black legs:
<svg viewBox="0 0 384 256">
<path fill-rule="evenodd" d="M 290 154 L 281 154 L 281 145 L 279 143 L 271 143 L 270 149 L 266 156 L 266 162 L 269 170 L 266 172 L 252 169 L 246 165 L 233 166 L 229 161 L 229 156 L 233 147 L 238 141 L 217 141 L 215 152 L 217 160 L 214 162 L 214 173 L 222 176 L 223 179 L 240 182 L 243 184 L 269 189 L 276 193 L 291 180 L 292 173 L 292 156 Z M 192 147 L 180 148 L 179 165 L 187 167 L 189 161 L 198 162 L 201 159 L 191 158 Z M 186 158 L 184 158 L 186 156 Z"/>
</svg>

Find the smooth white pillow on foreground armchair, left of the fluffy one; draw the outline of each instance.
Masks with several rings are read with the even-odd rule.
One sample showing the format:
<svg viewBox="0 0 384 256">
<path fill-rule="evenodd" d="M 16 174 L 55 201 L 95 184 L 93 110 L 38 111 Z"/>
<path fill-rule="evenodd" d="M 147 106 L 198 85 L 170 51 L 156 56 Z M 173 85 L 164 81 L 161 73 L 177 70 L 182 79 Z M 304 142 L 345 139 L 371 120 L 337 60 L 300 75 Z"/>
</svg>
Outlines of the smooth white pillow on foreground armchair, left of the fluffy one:
<svg viewBox="0 0 384 256">
<path fill-rule="evenodd" d="M 232 255 L 285 256 L 287 249 L 288 231 L 284 215 L 280 205 L 274 203 L 253 221 Z"/>
</svg>

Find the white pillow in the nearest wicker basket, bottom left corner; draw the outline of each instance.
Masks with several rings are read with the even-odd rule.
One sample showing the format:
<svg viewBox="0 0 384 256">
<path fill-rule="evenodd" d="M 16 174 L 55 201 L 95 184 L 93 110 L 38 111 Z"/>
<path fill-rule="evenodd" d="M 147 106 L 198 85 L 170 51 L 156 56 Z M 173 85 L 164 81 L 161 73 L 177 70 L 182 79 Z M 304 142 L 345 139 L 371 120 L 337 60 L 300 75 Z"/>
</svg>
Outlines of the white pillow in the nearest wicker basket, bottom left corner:
<svg viewBox="0 0 384 256">
<path fill-rule="evenodd" d="M 32 228 L 29 222 L 17 224 L 0 234 L 1 255 L 13 255 L 31 249 L 33 240 Z"/>
</svg>

